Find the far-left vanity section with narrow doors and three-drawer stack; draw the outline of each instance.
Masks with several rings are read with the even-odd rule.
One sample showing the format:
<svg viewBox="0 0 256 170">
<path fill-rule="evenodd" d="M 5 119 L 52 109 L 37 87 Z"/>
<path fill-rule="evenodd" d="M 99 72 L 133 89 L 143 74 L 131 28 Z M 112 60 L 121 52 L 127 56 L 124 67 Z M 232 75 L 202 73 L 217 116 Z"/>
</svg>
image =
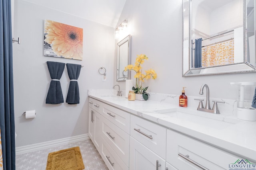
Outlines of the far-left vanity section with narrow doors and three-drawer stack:
<svg viewBox="0 0 256 170">
<path fill-rule="evenodd" d="M 130 113 L 89 98 L 89 136 L 109 169 L 129 169 Z"/>
</svg>

